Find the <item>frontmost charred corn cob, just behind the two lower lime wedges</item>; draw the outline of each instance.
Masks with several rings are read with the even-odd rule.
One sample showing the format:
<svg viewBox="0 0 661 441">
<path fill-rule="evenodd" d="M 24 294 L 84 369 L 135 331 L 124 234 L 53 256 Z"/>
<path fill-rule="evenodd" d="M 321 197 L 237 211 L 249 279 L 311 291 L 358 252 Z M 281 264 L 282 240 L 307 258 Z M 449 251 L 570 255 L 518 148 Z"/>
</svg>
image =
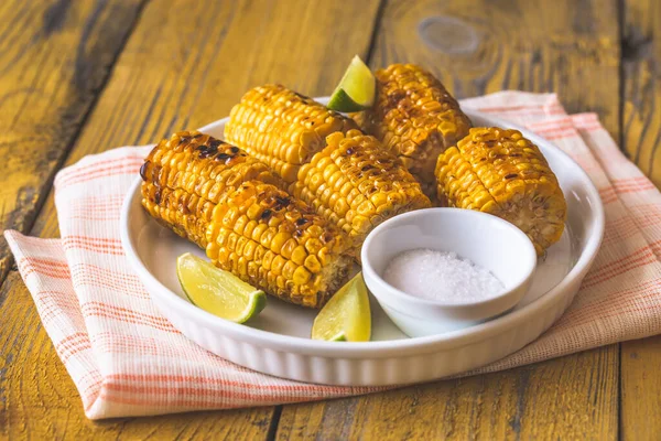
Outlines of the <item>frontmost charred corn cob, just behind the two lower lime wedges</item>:
<svg viewBox="0 0 661 441">
<path fill-rule="evenodd" d="M 321 308 L 348 278 L 348 240 L 278 187 L 242 183 L 216 206 L 207 256 L 225 270 L 292 303 Z"/>
</svg>

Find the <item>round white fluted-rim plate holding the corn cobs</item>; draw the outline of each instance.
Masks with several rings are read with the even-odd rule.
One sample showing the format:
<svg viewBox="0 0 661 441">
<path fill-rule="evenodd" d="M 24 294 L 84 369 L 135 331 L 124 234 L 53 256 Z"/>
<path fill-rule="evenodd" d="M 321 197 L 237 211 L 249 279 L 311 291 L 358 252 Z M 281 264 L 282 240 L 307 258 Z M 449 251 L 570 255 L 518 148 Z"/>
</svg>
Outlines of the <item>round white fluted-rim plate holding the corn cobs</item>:
<svg viewBox="0 0 661 441">
<path fill-rule="evenodd" d="M 310 340 L 316 312 L 273 298 L 249 324 L 225 321 L 193 305 L 183 294 L 176 257 L 186 251 L 204 256 L 204 251 L 144 212 L 140 178 L 121 212 L 127 257 L 163 315 L 184 335 L 214 354 L 264 374 L 328 385 L 379 386 L 426 381 L 495 362 L 535 340 L 570 305 L 599 248 L 604 209 L 589 178 L 552 143 L 507 121 L 466 114 L 475 126 L 521 130 L 540 147 L 567 200 L 565 234 L 538 265 L 525 298 L 508 314 L 442 335 L 409 338 L 375 301 L 372 341 L 366 343 Z M 226 121 L 201 131 L 221 138 Z"/>
</svg>

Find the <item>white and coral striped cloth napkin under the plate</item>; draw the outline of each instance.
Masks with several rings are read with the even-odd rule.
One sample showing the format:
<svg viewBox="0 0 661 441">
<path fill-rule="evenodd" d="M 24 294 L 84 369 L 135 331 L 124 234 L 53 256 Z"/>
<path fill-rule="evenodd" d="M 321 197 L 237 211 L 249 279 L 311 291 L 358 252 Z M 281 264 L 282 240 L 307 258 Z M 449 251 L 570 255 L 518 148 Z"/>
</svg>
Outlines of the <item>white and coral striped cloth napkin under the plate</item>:
<svg viewBox="0 0 661 441">
<path fill-rule="evenodd" d="M 661 194 L 594 114 L 567 115 L 555 95 L 503 92 L 462 103 L 552 140 L 590 175 L 606 234 L 567 312 L 494 372 L 661 333 Z M 61 239 L 4 232 L 57 354 L 90 419 L 228 409 L 365 394 L 270 377 L 180 334 L 123 256 L 119 212 L 149 148 L 84 158 L 55 179 Z"/>
</svg>

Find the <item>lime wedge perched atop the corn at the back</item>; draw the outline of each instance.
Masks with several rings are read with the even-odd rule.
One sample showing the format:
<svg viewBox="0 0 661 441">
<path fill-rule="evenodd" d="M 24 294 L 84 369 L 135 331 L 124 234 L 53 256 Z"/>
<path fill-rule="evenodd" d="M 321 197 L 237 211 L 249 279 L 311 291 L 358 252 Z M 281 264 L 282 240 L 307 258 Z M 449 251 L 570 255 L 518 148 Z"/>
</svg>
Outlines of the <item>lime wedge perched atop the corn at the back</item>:
<svg viewBox="0 0 661 441">
<path fill-rule="evenodd" d="M 345 112 L 365 110 L 375 104 L 375 76 L 356 55 L 330 96 L 327 107 Z"/>
</svg>

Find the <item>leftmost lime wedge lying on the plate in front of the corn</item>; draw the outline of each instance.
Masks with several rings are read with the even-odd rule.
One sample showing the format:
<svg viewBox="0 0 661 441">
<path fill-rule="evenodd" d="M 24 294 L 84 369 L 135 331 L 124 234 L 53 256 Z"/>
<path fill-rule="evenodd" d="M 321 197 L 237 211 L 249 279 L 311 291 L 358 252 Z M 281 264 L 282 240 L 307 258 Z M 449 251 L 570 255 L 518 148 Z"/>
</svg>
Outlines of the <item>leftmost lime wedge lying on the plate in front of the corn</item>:
<svg viewBox="0 0 661 441">
<path fill-rule="evenodd" d="M 219 318 L 243 323 L 267 305 L 264 291 L 191 252 L 176 259 L 176 275 L 191 302 Z"/>
</svg>

